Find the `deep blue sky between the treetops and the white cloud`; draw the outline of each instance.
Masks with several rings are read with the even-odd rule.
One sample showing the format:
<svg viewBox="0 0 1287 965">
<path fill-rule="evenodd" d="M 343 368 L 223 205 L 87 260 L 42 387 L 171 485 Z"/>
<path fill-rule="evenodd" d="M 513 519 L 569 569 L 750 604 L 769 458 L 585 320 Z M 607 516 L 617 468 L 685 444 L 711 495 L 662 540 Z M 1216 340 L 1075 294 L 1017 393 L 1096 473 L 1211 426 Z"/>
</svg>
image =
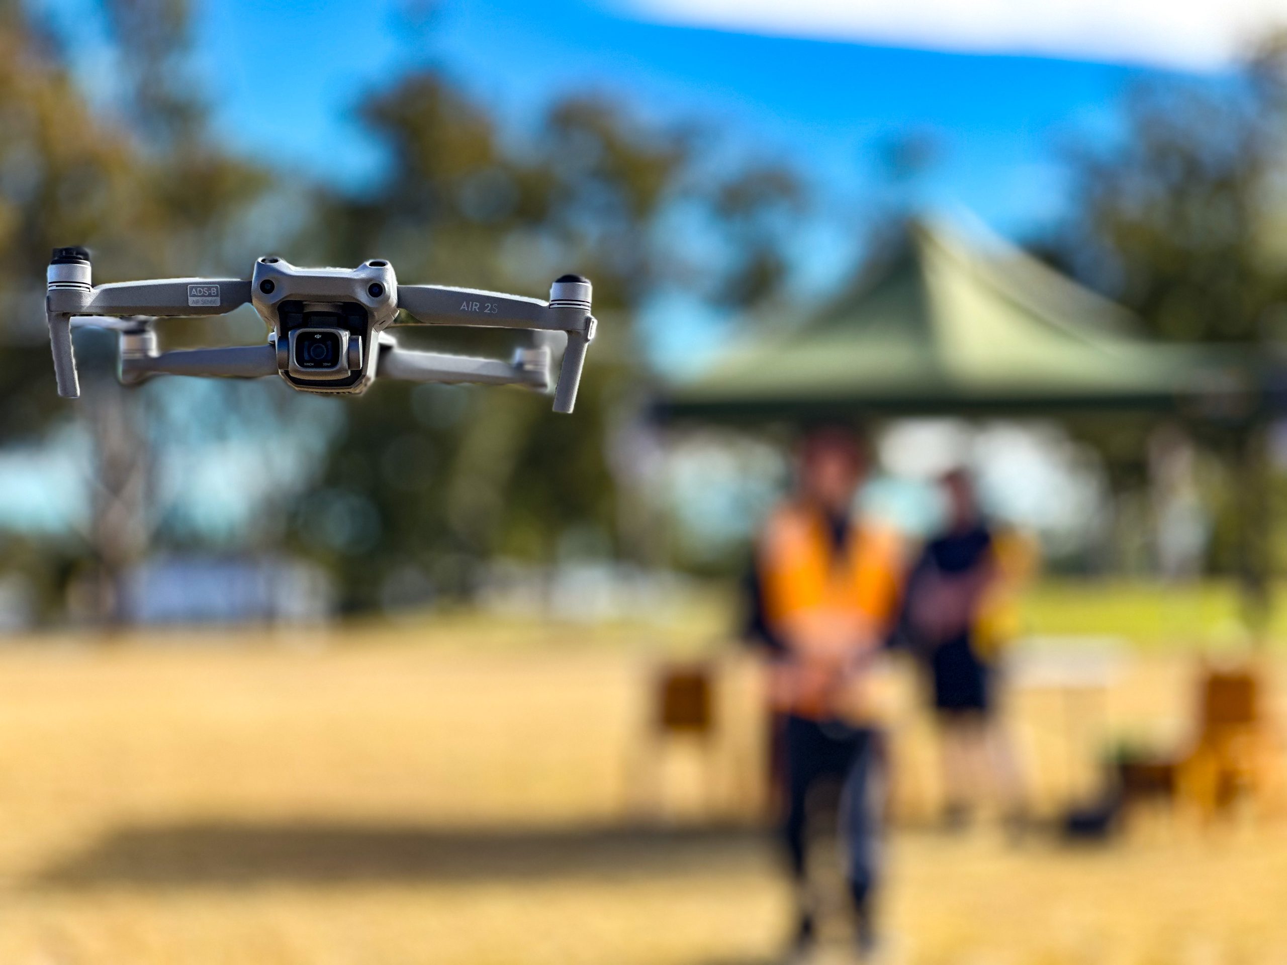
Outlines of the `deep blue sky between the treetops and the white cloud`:
<svg viewBox="0 0 1287 965">
<path fill-rule="evenodd" d="M 1122 90 L 1151 69 L 667 26 L 583 0 L 444 0 L 423 18 L 405 8 L 201 4 L 198 50 L 220 130 L 247 152 L 360 183 L 380 156 L 355 107 L 391 73 L 434 63 L 516 125 L 573 91 L 705 118 L 856 205 L 875 145 L 924 131 L 941 145 L 925 201 L 1023 234 L 1063 210 L 1060 145 L 1111 125 Z"/>
</svg>

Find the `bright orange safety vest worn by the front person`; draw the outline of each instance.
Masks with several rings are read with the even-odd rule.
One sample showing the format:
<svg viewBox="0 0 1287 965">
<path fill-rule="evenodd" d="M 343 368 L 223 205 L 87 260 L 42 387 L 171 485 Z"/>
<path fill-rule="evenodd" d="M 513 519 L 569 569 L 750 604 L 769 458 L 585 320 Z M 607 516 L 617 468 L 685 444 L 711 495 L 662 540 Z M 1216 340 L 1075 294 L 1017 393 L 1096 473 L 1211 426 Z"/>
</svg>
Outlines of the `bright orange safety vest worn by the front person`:
<svg viewBox="0 0 1287 965">
<path fill-rule="evenodd" d="M 828 521 L 788 503 L 768 519 L 757 569 L 764 620 L 788 648 L 772 703 L 806 717 L 835 712 L 855 660 L 883 641 L 902 589 L 900 542 L 889 530 L 851 524 L 838 553 Z"/>
</svg>

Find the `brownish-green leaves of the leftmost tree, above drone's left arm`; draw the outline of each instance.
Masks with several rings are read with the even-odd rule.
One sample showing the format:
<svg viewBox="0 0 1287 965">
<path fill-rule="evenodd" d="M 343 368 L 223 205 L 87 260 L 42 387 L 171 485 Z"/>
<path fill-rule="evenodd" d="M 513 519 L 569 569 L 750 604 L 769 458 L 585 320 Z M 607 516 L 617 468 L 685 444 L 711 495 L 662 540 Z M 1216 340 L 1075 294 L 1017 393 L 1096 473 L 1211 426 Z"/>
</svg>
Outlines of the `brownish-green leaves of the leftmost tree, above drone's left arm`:
<svg viewBox="0 0 1287 965">
<path fill-rule="evenodd" d="M 49 387 L 44 273 L 57 244 L 90 244 L 100 280 L 223 268 L 221 252 L 266 185 L 208 151 L 199 130 L 166 151 L 91 109 L 57 45 L 19 5 L 0 17 L 0 439 L 64 412 Z"/>
</svg>

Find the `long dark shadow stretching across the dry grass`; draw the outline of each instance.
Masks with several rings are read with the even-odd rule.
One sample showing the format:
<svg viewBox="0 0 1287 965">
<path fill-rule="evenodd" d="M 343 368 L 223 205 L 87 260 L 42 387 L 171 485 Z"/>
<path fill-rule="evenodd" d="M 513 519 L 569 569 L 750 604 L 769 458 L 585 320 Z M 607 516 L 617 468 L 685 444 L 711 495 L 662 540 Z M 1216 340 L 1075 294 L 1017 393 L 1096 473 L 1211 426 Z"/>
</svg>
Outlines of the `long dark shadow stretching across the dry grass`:
<svg viewBox="0 0 1287 965">
<path fill-rule="evenodd" d="M 127 826 L 28 879 L 37 888 L 237 887 L 263 883 L 631 879 L 762 872 L 753 829 L 444 829 L 417 825 L 208 822 Z"/>
</svg>

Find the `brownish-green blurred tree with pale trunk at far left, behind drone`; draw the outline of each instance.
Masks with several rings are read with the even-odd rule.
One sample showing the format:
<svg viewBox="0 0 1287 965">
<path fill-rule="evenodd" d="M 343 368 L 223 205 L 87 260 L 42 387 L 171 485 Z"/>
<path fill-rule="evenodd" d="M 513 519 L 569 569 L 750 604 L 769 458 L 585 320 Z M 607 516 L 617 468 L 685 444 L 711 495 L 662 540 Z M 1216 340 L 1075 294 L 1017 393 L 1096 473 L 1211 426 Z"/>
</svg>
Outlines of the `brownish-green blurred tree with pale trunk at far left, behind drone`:
<svg viewBox="0 0 1287 965">
<path fill-rule="evenodd" d="M 91 108 L 72 78 L 76 51 L 63 50 L 23 5 L 0 12 L 0 300 L 9 329 L 0 437 L 30 440 L 73 413 L 88 419 L 97 452 L 93 521 L 73 553 L 97 574 L 98 611 L 113 620 L 122 573 L 167 526 L 151 448 L 181 439 L 185 427 L 166 418 L 181 392 L 122 390 L 109 354 L 79 340 L 88 398 L 79 407 L 55 398 L 41 324 L 49 250 L 90 246 L 98 282 L 239 274 L 252 257 L 252 210 L 270 178 L 208 135 L 203 104 L 181 71 L 185 4 L 112 0 L 104 10 L 129 66 L 125 103 L 113 113 Z M 167 324 L 165 336 L 181 341 L 211 329 Z M 272 410 L 260 405 L 256 418 Z M 179 435 L 161 435 L 162 426 Z"/>
</svg>

